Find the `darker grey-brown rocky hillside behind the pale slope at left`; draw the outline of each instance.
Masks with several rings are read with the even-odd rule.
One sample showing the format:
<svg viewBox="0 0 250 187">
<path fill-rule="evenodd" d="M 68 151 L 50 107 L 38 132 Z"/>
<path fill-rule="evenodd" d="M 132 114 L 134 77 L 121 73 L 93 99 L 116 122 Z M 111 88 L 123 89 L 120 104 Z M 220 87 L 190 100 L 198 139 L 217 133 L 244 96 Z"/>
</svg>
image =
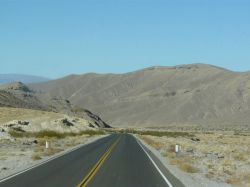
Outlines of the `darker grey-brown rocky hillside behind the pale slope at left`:
<svg viewBox="0 0 250 187">
<path fill-rule="evenodd" d="M 70 101 L 61 97 L 51 97 L 45 93 L 32 91 L 21 82 L 0 86 L 0 106 L 63 113 L 84 118 L 98 127 L 109 127 L 100 117 L 89 110 L 75 107 Z"/>
</svg>

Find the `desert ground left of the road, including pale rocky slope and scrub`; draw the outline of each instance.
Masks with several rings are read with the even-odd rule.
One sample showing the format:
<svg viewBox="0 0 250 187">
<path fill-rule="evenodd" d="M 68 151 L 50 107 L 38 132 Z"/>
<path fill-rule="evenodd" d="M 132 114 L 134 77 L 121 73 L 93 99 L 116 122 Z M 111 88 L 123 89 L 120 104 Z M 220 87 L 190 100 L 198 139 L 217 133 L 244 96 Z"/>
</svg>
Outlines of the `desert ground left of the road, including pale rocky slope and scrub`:
<svg viewBox="0 0 250 187">
<path fill-rule="evenodd" d="M 17 108 L 0 114 L 0 179 L 106 136 L 65 114 Z"/>
</svg>

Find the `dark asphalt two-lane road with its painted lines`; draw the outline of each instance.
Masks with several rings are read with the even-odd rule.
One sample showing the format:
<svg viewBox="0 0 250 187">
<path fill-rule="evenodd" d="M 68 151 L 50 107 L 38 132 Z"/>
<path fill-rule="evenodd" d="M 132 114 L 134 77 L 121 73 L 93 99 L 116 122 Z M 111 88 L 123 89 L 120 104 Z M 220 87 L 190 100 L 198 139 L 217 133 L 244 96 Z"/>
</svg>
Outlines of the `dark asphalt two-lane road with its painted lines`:
<svg viewBox="0 0 250 187">
<path fill-rule="evenodd" d="M 144 151 L 146 150 L 146 152 Z M 0 187 L 182 187 L 131 135 L 110 135 L 0 182 Z"/>
</svg>

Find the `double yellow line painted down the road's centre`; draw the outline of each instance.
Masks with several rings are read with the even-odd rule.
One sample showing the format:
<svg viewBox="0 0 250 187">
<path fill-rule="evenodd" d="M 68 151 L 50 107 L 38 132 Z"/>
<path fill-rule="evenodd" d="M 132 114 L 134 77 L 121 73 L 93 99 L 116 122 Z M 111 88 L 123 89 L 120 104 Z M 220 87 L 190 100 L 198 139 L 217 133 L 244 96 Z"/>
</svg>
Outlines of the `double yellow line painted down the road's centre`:
<svg viewBox="0 0 250 187">
<path fill-rule="evenodd" d="M 86 187 L 88 183 L 91 181 L 91 179 L 96 175 L 98 170 L 101 168 L 105 160 L 108 158 L 108 156 L 111 154 L 115 146 L 120 141 L 120 138 L 116 140 L 110 148 L 102 155 L 102 157 L 98 160 L 98 162 L 94 165 L 94 167 L 91 169 L 91 171 L 88 173 L 88 175 L 81 181 L 80 184 L 77 185 L 77 187 Z"/>
</svg>

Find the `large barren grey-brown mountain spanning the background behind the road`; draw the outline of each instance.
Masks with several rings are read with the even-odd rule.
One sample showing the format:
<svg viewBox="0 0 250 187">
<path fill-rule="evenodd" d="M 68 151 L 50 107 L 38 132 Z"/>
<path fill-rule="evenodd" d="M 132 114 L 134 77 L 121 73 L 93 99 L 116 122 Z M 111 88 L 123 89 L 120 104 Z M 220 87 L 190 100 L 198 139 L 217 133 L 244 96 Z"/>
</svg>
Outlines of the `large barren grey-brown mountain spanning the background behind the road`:
<svg viewBox="0 0 250 187">
<path fill-rule="evenodd" d="M 97 112 L 114 126 L 248 126 L 250 73 L 192 64 L 85 74 L 32 84 Z"/>
</svg>

